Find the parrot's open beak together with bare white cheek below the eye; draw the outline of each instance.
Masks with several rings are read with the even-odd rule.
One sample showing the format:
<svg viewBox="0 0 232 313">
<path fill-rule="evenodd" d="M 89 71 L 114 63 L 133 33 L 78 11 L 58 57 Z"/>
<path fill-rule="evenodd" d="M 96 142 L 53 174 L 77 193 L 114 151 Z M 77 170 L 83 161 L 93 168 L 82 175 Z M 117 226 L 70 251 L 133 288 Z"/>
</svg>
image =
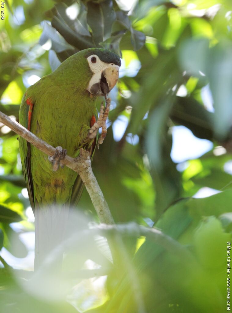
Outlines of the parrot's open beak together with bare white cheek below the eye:
<svg viewBox="0 0 232 313">
<path fill-rule="evenodd" d="M 95 75 L 96 78 L 94 77 Z M 113 89 L 119 79 L 119 66 L 112 65 L 111 67 L 107 67 L 95 75 L 90 80 L 87 90 L 93 95 L 107 95 L 110 90 Z"/>
</svg>

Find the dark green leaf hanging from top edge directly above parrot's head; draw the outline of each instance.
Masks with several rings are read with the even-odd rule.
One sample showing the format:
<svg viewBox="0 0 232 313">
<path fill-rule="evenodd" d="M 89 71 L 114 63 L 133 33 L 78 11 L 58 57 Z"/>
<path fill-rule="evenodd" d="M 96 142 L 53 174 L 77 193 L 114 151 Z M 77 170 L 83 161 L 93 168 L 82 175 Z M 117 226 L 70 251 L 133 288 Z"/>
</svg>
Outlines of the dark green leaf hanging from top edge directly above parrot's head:
<svg viewBox="0 0 232 313">
<path fill-rule="evenodd" d="M 113 1 L 105 0 L 99 3 L 89 1 L 87 8 L 87 22 L 93 31 L 94 42 L 98 45 L 111 34 L 112 24 L 116 19 Z"/>
</svg>

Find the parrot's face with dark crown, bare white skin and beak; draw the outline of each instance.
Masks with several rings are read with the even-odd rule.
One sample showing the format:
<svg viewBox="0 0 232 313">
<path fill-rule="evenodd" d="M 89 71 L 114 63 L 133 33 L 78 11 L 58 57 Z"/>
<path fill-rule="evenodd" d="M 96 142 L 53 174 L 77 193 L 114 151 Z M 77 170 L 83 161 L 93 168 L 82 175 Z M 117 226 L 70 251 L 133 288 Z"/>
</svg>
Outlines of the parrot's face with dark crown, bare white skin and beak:
<svg viewBox="0 0 232 313">
<path fill-rule="evenodd" d="M 88 66 L 93 73 L 87 90 L 93 95 L 107 95 L 119 79 L 121 60 L 117 54 L 105 49 L 92 48 L 85 51 Z"/>
</svg>

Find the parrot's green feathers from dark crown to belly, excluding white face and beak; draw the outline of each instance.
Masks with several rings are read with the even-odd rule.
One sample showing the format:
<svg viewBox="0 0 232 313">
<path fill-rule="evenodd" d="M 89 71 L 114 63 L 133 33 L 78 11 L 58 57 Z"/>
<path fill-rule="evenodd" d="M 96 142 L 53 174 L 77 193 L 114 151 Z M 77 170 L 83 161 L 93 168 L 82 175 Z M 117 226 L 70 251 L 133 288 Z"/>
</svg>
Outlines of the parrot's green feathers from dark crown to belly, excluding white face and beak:
<svg viewBox="0 0 232 313">
<path fill-rule="evenodd" d="M 95 146 L 94 139 L 86 141 L 91 118 L 97 113 L 96 96 L 87 91 L 93 76 L 87 61 L 91 54 L 98 55 L 102 62 L 120 62 L 116 54 L 107 50 L 82 50 L 65 60 L 52 74 L 29 87 L 19 112 L 20 124 L 53 147 L 67 149 L 67 154 L 72 157 L 78 156 L 83 143 L 91 154 Z M 83 184 L 77 173 L 68 167 L 59 167 L 53 172 L 48 156 L 21 137 L 19 149 L 38 228 L 38 223 L 45 223 L 44 218 L 43 222 L 40 221 L 41 210 L 45 212 L 43 207 L 76 205 Z"/>
</svg>

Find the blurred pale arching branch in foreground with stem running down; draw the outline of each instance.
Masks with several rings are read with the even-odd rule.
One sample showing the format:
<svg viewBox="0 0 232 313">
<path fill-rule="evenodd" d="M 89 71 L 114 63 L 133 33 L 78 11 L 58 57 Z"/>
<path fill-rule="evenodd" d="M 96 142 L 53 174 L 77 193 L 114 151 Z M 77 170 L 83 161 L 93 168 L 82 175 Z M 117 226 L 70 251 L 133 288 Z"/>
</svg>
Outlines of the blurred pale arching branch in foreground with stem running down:
<svg viewBox="0 0 232 313">
<path fill-rule="evenodd" d="M 73 233 L 72 236 L 63 242 L 61 242 L 56 248 L 54 248 L 44 259 L 41 267 L 38 269 L 37 272 L 34 273 L 32 280 L 38 283 L 38 280 L 47 280 L 47 273 L 50 272 L 50 269 L 53 266 L 53 262 L 59 258 L 59 256 L 63 253 L 64 249 L 70 249 L 73 247 L 79 249 L 83 249 L 85 243 L 88 243 L 90 239 L 96 237 L 96 235 L 101 235 L 106 237 L 108 240 L 110 237 L 117 239 L 117 237 L 121 238 L 121 236 L 146 236 L 154 243 L 162 246 L 168 252 L 176 255 L 179 258 L 179 261 L 183 264 L 191 264 L 191 266 L 197 265 L 197 261 L 191 252 L 186 249 L 186 247 L 179 244 L 179 242 L 175 241 L 168 235 L 162 233 L 160 230 L 155 228 L 147 228 L 144 226 L 139 226 L 136 223 L 128 223 L 128 224 L 121 224 L 121 225 L 106 225 L 100 224 L 95 228 L 85 229 L 79 231 L 78 233 Z M 116 240 L 115 240 L 116 242 Z M 122 242 L 122 240 L 121 240 Z M 123 261 L 125 269 L 128 273 L 128 280 L 129 284 L 132 288 L 132 292 L 135 297 L 135 303 L 137 304 L 137 312 L 138 313 L 145 313 L 146 309 L 144 306 L 143 295 L 141 294 L 139 281 L 137 279 L 137 268 L 134 268 L 134 264 L 128 259 L 127 253 L 123 248 L 123 242 L 118 245 L 118 249 L 123 252 L 120 254 L 120 258 Z M 78 274 L 83 273 L 84 275 L 94 274 L 94 270 L 92 272 L 83 272 L 78 271 Z M 107 275 L 107 273 L 101 269 L 99 269 L 97 275 Z M 75 276 L 75 272 L 74 272 Z M 70 277 L 69 275 L 67 276 Z M 66 274 L 61 274 L 60 278 L 66 279 Z"/>
</svg>

